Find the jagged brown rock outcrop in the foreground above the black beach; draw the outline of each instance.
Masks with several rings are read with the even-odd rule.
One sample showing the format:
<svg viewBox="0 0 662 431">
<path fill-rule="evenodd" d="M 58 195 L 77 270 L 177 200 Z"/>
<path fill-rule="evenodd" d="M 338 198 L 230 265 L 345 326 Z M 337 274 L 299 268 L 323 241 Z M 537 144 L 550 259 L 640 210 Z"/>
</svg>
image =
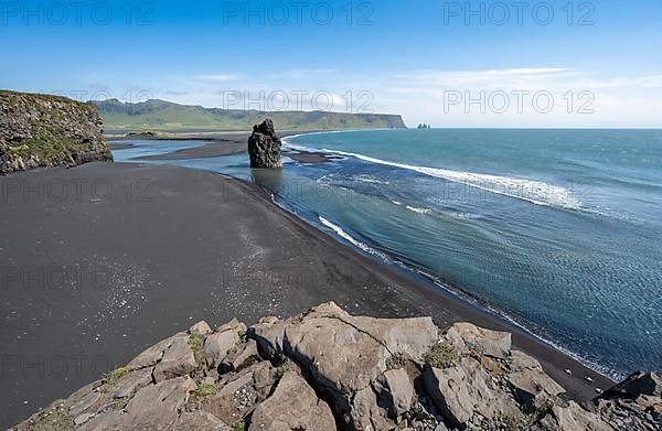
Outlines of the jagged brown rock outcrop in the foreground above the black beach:
<svg viewBox="0 0 662 431">
<path fill-rule="evenodd" d="M 660 430 L 659 374 L 585 410 L 508 333 L 327 303 L 254 326 L 200 322 L 18 430 Z"/>
</svg>

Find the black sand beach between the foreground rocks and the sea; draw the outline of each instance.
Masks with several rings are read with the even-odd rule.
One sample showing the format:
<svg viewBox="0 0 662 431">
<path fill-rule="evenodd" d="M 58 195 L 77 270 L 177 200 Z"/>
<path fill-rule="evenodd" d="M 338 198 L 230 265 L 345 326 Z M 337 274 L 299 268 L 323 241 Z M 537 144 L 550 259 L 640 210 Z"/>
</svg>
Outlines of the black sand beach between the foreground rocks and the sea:
<svg viewBox="0 0 662 431">
<path fill-rule="evenodd" d="M 579 401 L 611 385 L 220 174 L 90 163 L 0 177 L 0 191 L 3 428 L 200 320 L 253 323 L 330 300 L 354 314 L 511 331 Z"/>
</svg>

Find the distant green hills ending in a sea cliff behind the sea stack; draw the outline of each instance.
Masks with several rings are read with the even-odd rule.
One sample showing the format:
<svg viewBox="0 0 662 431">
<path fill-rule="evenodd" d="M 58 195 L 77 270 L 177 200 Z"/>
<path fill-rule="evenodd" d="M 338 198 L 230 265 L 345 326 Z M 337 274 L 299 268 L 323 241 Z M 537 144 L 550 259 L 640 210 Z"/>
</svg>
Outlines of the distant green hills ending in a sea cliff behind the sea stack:
<svg viewBox="0 0 662 431">
<path fill-rule="evenodd" d="M 217 109 L 178 105 L 164 100 L 124 104 L 117 99 L 92 101 L 106 127 L 116 130 L 252 130 L 269 117 L 282 130 L 403 129 L 398 115 L 327 111 L 275 111 Z"/>
</svg>

